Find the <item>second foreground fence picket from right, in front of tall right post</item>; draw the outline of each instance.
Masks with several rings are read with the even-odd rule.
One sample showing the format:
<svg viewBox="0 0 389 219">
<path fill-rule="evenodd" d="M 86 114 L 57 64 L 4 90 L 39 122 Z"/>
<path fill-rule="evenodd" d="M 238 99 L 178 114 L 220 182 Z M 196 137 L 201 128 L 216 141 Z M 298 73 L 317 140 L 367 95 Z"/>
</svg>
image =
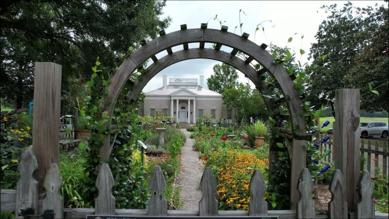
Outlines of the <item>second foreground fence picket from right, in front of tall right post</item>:
<svg viewBox="0 0 389 219">
<path fill-rule="evenodd" d="M 332 198 L 328 202 L 329 218 L 348 218 L 346 181 L 339 169 L 336 169 L 332 176 L 330 192 Z"/>
</svg>

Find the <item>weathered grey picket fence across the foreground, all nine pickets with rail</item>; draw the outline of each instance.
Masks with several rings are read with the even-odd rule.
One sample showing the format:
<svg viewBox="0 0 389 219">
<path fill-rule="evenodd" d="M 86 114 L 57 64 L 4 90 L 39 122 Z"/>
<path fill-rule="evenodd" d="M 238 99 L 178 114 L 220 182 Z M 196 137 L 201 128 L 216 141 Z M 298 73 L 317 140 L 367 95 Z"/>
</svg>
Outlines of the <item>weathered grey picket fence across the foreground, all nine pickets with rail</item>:
<svg viewBox="0 0 389 219">
<path fill-rule="evenodd" d="M 111 215 L 126 216 L 125 218 L 142 218 L 142 216 L 174 217 L 234 217 L 255 218 L 272 216 L 276 218 L 348 218 L 346 183 L 340 170 L 335 170 L 329 190 L 332 199 L 328 203 L 328 212 L 316 212 L 312 198 L 314 183 L 307 168 L 301 172 L 298 191 L 301 194 L 296 210 L 267 210 L 265 201 L 265 180 L 258 169 L 254 170 L 249 184 L 252 198 L 248 211 L 218 211 L 217 184 L 210 167 L 206 167 L 200 181 L 203 197 L 199 201 L 198 211 L 167 210 L 167 201 L 163 196 L 166 183 L 159 166 L 154 167 L 150 178 L 149 189 L 151 198 L 147 209 L 116 209 L 115 198 L 112 195 L 114 180 L 108 164 L 102 164 L 96 180 L 99 195 L 95 200 L 95 208 L 64 208 L 60 194 L 63 181 L 57 164 L 51 164 L 44 180 L 45 194 L 38 193 L 38 181 L 33 173 L 38 168 L 36 157 L 31 147 L 24 150 L 18 164 L 20 179 L 16 190 L 1 190 L 1 210 L 16 211 L 16 218 L 96 218 Z M 360 199 L 356 203 L 356 211 L 352 218 L 388 218 L 388 214 L 374 212 L 372 194 L 374 188 L 370 173 L 363 171 L 355 192 Z"/>
</svg>

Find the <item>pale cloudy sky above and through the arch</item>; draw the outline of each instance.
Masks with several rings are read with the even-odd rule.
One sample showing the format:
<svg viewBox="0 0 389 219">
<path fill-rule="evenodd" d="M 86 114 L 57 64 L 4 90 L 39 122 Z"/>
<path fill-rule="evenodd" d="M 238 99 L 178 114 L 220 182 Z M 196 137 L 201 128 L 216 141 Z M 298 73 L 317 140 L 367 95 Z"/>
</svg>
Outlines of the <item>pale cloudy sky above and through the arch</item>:
<svg viewBox="0 0 389 219">
<path fill-rule="evenodd" d="M 307 56 L 311 43 L 316 42 L 315 34 L 318 31 L 319 24 L 325 20 L 328 14 L 324 9 L 320 9 L 323 4 L 330 5 L 336 3 L 342 6 L 347 1 L 175 1 L 168 0 L 166 7 L 163 9 L 163 16 L 172 18 L 170 26 L 165 32 L 171 33 L 180 29 L 180 24 L 187 24 L 188 29 L 199 28 L 200 23 L 207 23 L 208 28 L 220 29 L 220 24 L 213 17 L 217 15 L 221 21 L 225 21 L 223 25 L 229 27 L 228 31 L 241 35 L 239 28 L 239 10 L 241 12 L 242 32 L 250 34 L 251 41 L 261 45 L 270 43 L 284 47 L 288 45 L 292 50 L 299 51 L 303 49 L 306 54 L 301 60 L 307 62 Z M 374 6 L 385 4 L 382 1 L 352 1 L 355 7 Z M 266 20 L 271 20 L 266 21 Z M 263 32 L 257 32 L 254 39 L 254 32 L 259 23 L 262 22 L 265 28 Z M 235 26 L 238 26 L 236 29 Z M 260 28 L 262 29 L 262 28 Z M 295 35 L 296 33 L 296 35 Z M 301 36 L 304 35 L 301 40 Z M 287 43 L 288 38 L 293 37 L 291 43 Z M 198 43 L 189 44 L 189 48 L 198 48 Z M 211 48 L 209 43 L 205 44 L 206 48 Z M 181 46 L 173 47 L 173 52 L 182 50 Z M 231 49 L 223 47 L 221 50 L 230 52 Z M 297 52 L 298 54 L 299 52 Z M 167 55 L 166 52 L 161 52 L 157 58 Z M 297 56 L 300 60 L 300 55 Z M 149 62 L 151 64 L 152 62 Z M 209 59 L 192 59 L 186 60 L 159 72 L 143 89 L 143 92 L 152 91 L 162 87 L 162 75 L 167 75 L 168 78 L 198 78 L 199 75 L 204 75 L 204 87 L 207 87 L 206 81 L 213 74 L 212 66 L 220 62 Z M 239 81 L 248 83 L 248 79 L 243 73 L 238 72 Z M 249 84 L 252 86 L 251 81 Z"/>
</svg>

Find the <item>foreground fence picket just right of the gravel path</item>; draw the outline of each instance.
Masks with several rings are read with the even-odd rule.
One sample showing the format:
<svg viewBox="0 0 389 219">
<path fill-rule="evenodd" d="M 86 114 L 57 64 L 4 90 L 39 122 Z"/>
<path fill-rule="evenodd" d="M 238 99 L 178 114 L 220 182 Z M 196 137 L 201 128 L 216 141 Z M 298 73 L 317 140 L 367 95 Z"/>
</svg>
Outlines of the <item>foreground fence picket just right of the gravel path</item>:
<svg viewBox="0 0 389 219">
<path fill-rule="evenodd" d="M 205 168 L 203 176 L 201 177 L 200 190 L 203 193 L 203 197 L 198 202 L 199 216 L 217 216 L 218 204 L 215 199 L 217 186 L 215 177 L 209 166 Z"/>
</svg>

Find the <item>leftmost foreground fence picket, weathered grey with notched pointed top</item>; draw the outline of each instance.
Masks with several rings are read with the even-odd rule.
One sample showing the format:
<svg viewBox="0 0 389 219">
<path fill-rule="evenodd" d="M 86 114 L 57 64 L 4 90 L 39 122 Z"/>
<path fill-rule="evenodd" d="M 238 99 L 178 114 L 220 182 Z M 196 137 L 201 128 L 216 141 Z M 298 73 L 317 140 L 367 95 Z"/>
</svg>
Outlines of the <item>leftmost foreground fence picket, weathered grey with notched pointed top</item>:
<svg viewBox="0 0 389 219">
<path fill-rule="evenodd" d="M 28 209 L 28 214 L 37 215 L 39 206 L 39 183 L 35 180 L 33 173 L 38 168 L 36 157 L 31 147 L 24 149 L 18 164 L 20 179 L 16 186 L 16 218 L 24 218 L 23 213 Z"/>
</svg>

